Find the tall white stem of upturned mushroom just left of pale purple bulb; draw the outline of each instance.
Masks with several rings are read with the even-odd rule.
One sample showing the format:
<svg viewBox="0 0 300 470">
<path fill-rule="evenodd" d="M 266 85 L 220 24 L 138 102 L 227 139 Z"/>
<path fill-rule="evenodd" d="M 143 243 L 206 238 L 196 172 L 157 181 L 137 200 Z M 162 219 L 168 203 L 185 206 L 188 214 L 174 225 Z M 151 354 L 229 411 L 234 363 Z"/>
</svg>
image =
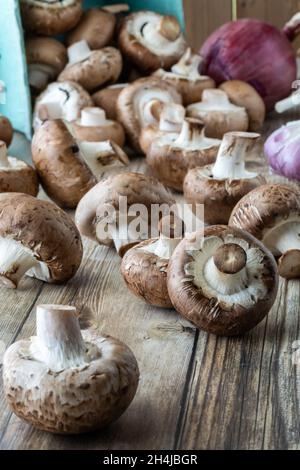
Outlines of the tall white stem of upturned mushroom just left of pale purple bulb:
<svg viewBox="0 0 300 470">
<path fill-rule="evenodd" d="M 260 134 L 250 132 L 228 132 L 224 135 L 215 164 L 214 179 L 255 178 L 256 173 L 245 169 L 245 159 L 257 149 Z"/>
</svg>

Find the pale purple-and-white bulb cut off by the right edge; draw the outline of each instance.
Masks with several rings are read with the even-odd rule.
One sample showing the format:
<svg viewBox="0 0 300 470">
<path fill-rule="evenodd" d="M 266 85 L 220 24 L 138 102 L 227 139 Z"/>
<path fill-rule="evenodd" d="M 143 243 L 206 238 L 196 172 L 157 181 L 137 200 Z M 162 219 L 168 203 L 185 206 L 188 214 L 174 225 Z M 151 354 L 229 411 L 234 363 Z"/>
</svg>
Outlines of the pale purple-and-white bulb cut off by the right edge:
<svg viewBox="0 0 300 470">
<path fill-rule="evenodd" d="M 300 121 L 273 132 L 265 143 L 265 154 L 276 173 L 300 181 Z"/>
</svg>

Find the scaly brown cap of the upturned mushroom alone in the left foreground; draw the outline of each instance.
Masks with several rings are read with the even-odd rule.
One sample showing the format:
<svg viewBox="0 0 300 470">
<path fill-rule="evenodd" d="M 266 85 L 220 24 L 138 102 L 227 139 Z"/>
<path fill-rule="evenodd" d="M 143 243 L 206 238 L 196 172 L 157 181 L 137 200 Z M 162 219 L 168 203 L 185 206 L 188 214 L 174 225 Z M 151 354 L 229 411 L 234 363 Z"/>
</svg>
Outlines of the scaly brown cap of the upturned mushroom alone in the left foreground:
<svg viewBox="0 0 300 470">
<path fill-rule="evenodd" d="M 19 418 L 44 431 L 78 434 L 103 428 L 126 410 L 139 380 L 133 353 L 121 341 L 95 330 L 84 330 L 82 336 L 87 347 L 97 348 L 98 356 L 86 367 L 59 373 L 31 357 L 34 338 L 7 349 L 4 390 Z"/>
</svg>

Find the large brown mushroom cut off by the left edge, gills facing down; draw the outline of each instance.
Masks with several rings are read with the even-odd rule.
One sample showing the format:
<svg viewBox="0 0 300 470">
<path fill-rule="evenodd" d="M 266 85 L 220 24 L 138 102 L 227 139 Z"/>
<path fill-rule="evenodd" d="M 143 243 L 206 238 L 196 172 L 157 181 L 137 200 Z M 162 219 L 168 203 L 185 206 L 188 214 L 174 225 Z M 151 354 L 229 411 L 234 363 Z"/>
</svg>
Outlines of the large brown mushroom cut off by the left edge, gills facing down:
<svg viewBox="0 0 300 470">
<path fill-rule="evenodd" d="M 0 283 L 16 288 L 25 274 L 49 283 L 71 279 L 82 259 L 71 217 L 53 202 L 0 194 Z"/>
</svg>

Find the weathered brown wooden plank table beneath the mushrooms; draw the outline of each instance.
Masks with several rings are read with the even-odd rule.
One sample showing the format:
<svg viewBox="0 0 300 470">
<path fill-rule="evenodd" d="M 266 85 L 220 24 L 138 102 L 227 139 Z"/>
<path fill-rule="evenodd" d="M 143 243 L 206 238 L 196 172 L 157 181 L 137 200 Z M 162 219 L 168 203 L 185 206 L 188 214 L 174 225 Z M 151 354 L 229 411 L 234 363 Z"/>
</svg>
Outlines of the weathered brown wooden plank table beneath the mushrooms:
<svg viewBox="0 0 300 470">
<path fill-rule="evenodd" d="M 298 116 L 269 118 L 264 135 Z M 28 158 L 20 136 L 12 153 Z M 262 158 L 249 167 L 267 174 Z M 144 171 L 143 160 L 131 168 Z M 0 340 L 8 346 L 33 335 L 38 304 L 75 305 L 85 322 L 132 348 L 138 393 L 108 429 L 62 437 L 20 421 L 1 388 L 1 449 L 300 449 L 300 365 L 292 361 L 300 340 L 299 281 L 281 280 L 272 311 L 252 332 L 218 338 L 136 299 L 113 250 L 87 240 L 84 249 L 79 272 L 65 286 L 26 278 L 18 290 L 0 289 Z"/>
</svg>

